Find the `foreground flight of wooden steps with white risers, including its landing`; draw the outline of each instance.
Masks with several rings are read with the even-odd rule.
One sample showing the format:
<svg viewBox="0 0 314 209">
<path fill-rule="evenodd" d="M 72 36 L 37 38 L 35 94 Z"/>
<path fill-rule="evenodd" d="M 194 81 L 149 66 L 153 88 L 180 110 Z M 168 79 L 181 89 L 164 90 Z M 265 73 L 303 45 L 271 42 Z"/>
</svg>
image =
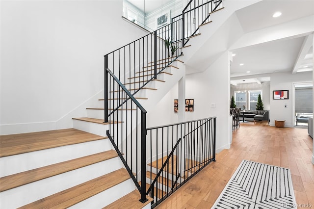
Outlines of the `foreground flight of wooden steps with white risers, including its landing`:
<svg viewBox="0 0 314 209">
<path fill-rule="evenodd" d="M 1 136 L 1 208 L 109 205 L 134 190 L 111 148 L 107 137 L 77 129 Z"/>
</svg>

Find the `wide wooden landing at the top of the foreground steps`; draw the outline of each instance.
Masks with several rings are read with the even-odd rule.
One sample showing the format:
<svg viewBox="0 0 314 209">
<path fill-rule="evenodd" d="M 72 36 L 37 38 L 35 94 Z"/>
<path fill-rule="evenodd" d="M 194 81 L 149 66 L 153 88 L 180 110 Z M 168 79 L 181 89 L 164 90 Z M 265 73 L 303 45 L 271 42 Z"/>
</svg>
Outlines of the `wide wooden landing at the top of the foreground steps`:
<svg viewBox="0 0 314 209">
<path fill-rule="evenodd" d="M 105 138 L 107 137 L 76 129 L 2 135 L 0 137 L 0 157 L 18 155 Z"/>
</svg>

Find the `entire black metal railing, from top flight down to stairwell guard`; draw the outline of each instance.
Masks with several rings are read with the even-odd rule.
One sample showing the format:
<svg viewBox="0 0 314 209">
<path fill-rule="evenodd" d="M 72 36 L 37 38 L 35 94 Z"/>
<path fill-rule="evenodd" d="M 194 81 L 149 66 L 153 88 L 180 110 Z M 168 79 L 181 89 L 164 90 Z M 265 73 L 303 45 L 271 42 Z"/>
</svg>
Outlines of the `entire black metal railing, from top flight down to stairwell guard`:
<svg viewBox="0 0 314 209">
<path fill-rule="evenodd" d="M 190 0 L 171 24 L 105 55 L 107 136 L 140 191 L 140 201 L 145 202 L 146 193 L 150 194 L 152 207 L 215 160 L 216 123 L 215 118 L 207 118 L 146 129 L 146 110 L 136 100 L 136 93 L 182 55 L 188 38 L 209 21 L 210 12 L 219 8 L 221 1 Z M 147 157 L 155 177 L 147 173 Z M 147 191 L 146 178 L 151 179 Z"/>
</svg>

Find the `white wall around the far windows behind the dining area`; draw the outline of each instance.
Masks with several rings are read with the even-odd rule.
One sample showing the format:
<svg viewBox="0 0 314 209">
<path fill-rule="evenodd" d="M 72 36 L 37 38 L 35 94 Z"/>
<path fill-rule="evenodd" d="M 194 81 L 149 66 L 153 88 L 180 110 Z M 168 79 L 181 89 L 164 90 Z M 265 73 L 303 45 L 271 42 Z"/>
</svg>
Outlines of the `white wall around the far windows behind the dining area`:
<svg viewBox="0 0 314 209">
<path fill-rule="evenodd" d="M 249 91 L 249 90 L 262 90 L 262 102 L 264 110 L 270 110 L 270 82 L 258 83 L 244 83 L 237 86 L 231 86 L 230 100 L 235 96 L 235 91 Z"/>
</svg>

